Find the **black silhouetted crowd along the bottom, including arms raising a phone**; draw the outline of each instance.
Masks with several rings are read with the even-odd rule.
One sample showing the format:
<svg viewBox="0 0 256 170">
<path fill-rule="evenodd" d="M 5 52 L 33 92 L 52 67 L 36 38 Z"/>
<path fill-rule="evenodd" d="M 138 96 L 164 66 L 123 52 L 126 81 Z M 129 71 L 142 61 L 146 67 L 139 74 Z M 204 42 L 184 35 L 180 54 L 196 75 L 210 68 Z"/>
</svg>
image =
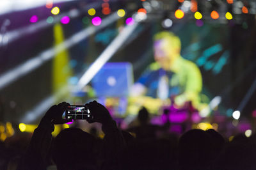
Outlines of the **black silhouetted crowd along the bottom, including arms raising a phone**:
<svg viewBox="0 0 256 170">
<path fill-rule="evenodd" d="M 256 169 L 255 135 L 228 141 L 213 129 L 191 129 L 179 136 L 169 132 L 170 122 L 151 125 L 145 108 L 138 113 L 138 125 L 124 130 L 93 101 L 86 104 L 93 115 L 87 121 L 101 123 L 102 139 L 95 130 L 90 134 L 76 127 L 53 138 L 54 125 L 70 121 L 62 118 L 68 105 L 62 102 L 46 112 L 28 146 L 20 146 L 25 152 L 1 143 L 1 169 Z"/>
</svg>

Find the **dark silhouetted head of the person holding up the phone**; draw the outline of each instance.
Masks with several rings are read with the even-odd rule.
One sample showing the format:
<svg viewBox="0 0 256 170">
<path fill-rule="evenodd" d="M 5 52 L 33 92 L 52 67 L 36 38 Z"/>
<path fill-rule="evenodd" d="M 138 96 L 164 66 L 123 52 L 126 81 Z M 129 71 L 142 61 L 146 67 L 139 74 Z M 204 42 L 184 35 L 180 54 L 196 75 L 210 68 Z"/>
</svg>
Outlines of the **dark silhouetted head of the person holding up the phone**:
<svg viewBox="0 0 256 170">
<path fill-rule="evenodd" d="M 97 140 L 80 128 L 65 128 L 53 144 L 53 160 L 58 170 L 95 169 Z"/>
</svg>

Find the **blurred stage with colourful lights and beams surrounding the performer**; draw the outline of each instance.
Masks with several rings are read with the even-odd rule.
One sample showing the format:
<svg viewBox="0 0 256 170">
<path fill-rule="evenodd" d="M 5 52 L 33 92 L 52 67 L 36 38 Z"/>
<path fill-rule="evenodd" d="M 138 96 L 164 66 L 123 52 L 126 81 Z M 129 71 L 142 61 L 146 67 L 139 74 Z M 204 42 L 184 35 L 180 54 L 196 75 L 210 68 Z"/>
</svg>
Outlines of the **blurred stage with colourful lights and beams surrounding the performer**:
<svg viewBox="0 0 256 170">
<path fill-rule="evenodd" d="M 214 127 L 227 137 L 250 134 L 255 16 L 254 0 L 2 0 L 1 141 L 31 132 L 62 101 L 97 100 L 127 126 L 138 111 L 128 111 L 131 87 L 154 62 L 152 37 L 164 30 L 179 36 L 181 56 L 202 73 L 206 106 L 192 126 Z M 152 123 L 161 124 L 163 107 L 148 109 Z"/>
</svg>

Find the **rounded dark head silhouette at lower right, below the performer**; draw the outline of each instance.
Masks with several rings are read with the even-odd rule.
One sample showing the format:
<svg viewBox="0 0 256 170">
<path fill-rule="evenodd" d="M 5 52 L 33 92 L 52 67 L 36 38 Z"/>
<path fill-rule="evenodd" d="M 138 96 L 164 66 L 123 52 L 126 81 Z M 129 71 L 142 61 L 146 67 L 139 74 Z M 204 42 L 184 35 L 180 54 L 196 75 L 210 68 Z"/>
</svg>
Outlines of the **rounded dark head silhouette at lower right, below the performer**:
<svg viewBox="0 0 256 170">
<path fill-rule="evenodd" d="M 212 164 L 212 153 L 211 136 L 204 130 L 189 130 L 180 137 L 180 169 L 209 169 Z"/>
</svg>

